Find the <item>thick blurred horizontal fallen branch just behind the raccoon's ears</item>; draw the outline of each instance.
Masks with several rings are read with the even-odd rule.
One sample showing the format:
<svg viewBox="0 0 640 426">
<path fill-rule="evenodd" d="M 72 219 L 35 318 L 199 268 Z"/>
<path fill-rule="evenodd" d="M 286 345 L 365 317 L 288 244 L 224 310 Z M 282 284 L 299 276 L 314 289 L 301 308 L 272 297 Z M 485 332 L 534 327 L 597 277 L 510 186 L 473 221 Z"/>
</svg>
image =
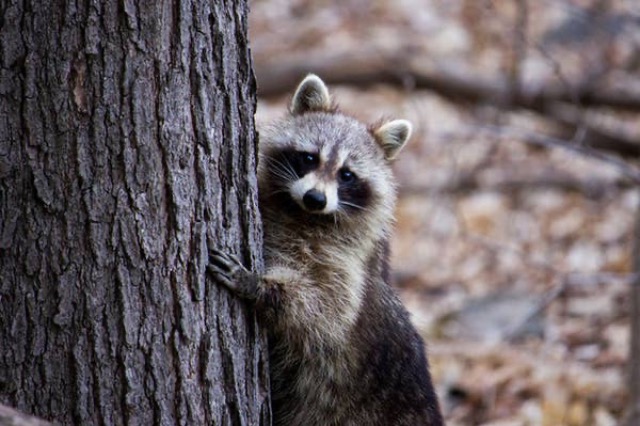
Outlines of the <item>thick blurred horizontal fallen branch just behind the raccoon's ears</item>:
<svg viewBox="0 0 640 426">
<path fill-rule="evenodd" d="M 582 107 L 609 107 L 640 111 L 640 96 L 631 92 L 583 85 L 523 86 L 513 92 L 509 84 L 465 74 L 458 67 L 445 69 L 421 60 L 413 60 L 407 46 L 391 53 L 363 47 L 338 53 L 306 52 L 304 55 L 256 61 L 255 71 L 260 96 L 275 96 L 291 91 L 309 72 L 327 83 L 370 86 L 387 83 L 432 90 L 450 99 L 466 102 L 498 103 L 506 108 L 524 108 L 545 112 L 558 102 L 578 102 Z M 420 58 L 418 58 L 420 59 Z"/>
</svg>

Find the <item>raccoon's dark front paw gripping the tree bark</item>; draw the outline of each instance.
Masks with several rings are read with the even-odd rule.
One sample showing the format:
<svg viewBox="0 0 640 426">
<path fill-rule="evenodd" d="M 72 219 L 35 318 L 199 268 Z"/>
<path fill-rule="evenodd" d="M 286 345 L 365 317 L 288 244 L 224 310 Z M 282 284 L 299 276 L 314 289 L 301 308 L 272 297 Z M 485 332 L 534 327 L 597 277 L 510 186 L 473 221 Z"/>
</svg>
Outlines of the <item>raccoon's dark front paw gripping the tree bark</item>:
<svg viewBox="0 0 640 426">
<path fill-rule="evenodd" d="M 213 279 L 246 298 L 254 298 L 258 277 L 242 265 L 232 254 L 218 249 L 209 250 L 207 271 Z"/>
</svg>

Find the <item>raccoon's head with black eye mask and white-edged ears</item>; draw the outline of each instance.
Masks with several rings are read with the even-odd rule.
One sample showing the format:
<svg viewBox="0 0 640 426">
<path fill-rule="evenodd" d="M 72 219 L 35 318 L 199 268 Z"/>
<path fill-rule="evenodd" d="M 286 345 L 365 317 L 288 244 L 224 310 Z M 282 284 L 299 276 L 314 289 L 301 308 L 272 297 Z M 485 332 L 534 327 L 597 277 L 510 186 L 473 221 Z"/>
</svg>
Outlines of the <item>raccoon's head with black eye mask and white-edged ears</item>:
<svg viewBox="0 0 640 426">
<path fill-rule="evenodd" d="M 309 75 L 293 96 L 290 115 L 261 132 L 261 198 L 275 201 L 284 214 L 390 220 L 390 162 L 410 134 L 406 120 L 367 127 L 336 112 L 323 81 Z"/>
</svg>

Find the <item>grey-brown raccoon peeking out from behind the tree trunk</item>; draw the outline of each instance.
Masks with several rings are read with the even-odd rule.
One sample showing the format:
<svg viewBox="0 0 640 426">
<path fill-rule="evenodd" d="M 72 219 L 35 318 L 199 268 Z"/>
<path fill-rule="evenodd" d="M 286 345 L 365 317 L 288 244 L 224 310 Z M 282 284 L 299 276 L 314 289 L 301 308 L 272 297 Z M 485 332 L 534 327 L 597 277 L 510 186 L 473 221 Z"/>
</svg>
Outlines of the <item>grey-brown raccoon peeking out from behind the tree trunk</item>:
<svg viewBox="0 0 640 426">
<path fill-rule="evenodd" d="M 367 127 L 307 76 L 260 133 L 266 272 L 211 250 L 269 330 L 274 425 L 442 425 L 424 343 L 389 286 L 390 162 L 411 124 Z"/>
</svg>

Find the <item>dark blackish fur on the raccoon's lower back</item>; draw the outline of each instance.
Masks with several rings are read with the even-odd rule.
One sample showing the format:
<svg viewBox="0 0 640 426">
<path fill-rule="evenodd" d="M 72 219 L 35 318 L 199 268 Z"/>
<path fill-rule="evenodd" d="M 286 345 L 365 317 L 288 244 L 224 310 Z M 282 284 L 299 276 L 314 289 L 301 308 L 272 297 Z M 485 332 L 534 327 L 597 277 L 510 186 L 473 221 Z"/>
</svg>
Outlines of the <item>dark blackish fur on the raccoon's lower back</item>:
<svg viewBox="0 0 640 426">
<path fill-rule="evenodd" d="M 376 425 L 442 425 L 424 341 L 408 312 L 386 282 L 367 290 L 354 342 L 367 354 L 354 377 L 358 417 Z"/>
</svg>

